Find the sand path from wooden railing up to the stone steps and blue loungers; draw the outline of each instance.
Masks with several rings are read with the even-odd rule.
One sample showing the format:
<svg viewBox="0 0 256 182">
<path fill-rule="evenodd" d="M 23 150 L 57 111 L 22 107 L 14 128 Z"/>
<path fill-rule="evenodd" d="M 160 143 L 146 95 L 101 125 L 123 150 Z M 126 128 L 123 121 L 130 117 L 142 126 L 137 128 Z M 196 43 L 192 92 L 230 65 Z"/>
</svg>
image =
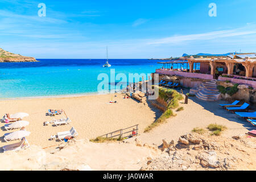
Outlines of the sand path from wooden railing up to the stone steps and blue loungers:
<svg viewBox="0 0 256 182">
<path fill-rule="evenodd" d="M 162 144 L 162 139 L 178 140 L 180 135 L 191 132 L 194 127 L 206 128 L 210 123 L 225 125 L 228 130 L 223 131 L 222 136 L 232 137 L 238 134 L 245 134 L 248 130 L 254 130 L 244 119 L 236 114 L 232 114 L 218 106 L 218 104 L 228 103 L 226 101 L 206 102 L 190 97 L 188 104 L 183 111 L 179 111 L 176 117 L 167 119 L 166 123 L 156 127 L 149 133 L 143 133 L 138 138 L 146 143 Z"/>
</svg>

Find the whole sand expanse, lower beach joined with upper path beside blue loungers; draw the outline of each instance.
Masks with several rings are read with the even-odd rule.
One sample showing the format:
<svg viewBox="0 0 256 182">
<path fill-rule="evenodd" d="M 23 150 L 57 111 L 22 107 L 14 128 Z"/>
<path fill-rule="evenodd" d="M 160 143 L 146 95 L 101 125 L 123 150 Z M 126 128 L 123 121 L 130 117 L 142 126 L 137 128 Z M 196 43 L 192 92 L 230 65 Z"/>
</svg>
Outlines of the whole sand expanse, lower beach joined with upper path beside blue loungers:
<svg viewBox="0 0 256 182">
<path fill-rule="evenodd" d="M 109 104 L 109 101 L 117 101 L 117 104 Z M 23 120 L 29 121 L 30 125 L 26 127 L 31 131 L 27 137 L 30 144 L 36 144 L 40 147 L 49 147 L 59 144 L 57 140 L 49 140 L 51 135 L 60 131 L 67 131 L 75 127 L 79 136 L 77 139 L 92 139 L 100 135 L 125 129 L 139 124 L 139 139 L 147 143 L 160 144 L 163 138 L 177 140 L 181 134 L 190 132 L 194 127 L 207 127 L 210 123 L 225 125 L 228 130 L 223 132 L 225 137 L 232 137 L 236 134 L 244 134 L 252 129 L 252 126 L 243 121 L 236 114 L 231 114 L 221 107 L 218 102 L 204 102 L 196 97 L 191 97 L 188 104 L 180 102 L 184 107 L 179 111 L 176 117 L 167 119 L 167 123 L 160 125 L 150 131 L 143 133 L 144 128 L 155 121 L 162 112 L 154 106 L 139 103 L 133 99 L 123 99 L 123 94 L 82 96 L 70 98 L 36 98 L 29 100 L 9 100 L 0 101 L 0 114 L 25 112 L 30 116 Z M 50 117 L 46 115 L 47 109 L 64 109 L 67 116 L 72 120 L 69 125 L 53 126 L 52 124 L 44 126 L 43 123 L 52 119 L 65 118 L 65 114 Z M 0 135 L 17 131 L 18 129 L 6 131 L 1 123 Z M 6 144 L 1 140 L 1 147 Z M 15 143 L 8 142 L 9 143 Z"/>
</svg>

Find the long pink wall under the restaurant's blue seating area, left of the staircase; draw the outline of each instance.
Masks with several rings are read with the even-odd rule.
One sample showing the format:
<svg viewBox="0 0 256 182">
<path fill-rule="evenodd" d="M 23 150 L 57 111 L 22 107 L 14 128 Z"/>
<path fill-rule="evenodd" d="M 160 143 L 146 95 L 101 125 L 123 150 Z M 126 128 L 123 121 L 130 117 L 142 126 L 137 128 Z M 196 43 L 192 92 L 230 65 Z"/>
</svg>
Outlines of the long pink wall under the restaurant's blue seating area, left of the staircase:
<svg viewBox="0 0 256 182">
<path fill-rule="evenodd" d="M 164 75 L 177 75 L 183 77 L 190 77 L 190 78 L 201 78 L 206 80 L 212 80 L 212 75 L 201 74 L 201 73 L 189 73 L 189 72 L 178 72 L 178 71 L 171 71 L 167 69 L 156 69 L 155 73 L 164 74 Z"/>
</svg>

